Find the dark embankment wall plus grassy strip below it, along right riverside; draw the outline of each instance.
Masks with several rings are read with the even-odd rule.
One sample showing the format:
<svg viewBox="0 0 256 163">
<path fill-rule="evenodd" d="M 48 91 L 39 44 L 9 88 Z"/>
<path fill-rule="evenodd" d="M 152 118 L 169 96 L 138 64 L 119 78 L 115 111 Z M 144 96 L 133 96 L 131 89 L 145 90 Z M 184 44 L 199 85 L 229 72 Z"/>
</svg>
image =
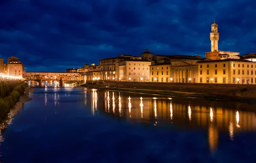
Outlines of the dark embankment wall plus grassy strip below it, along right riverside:
<svg viewBox="0 0 256 163">
<path fill-rule="evenodd" d="M 222 100 L 253 100 L 256 99 L 256 85 L 241 84 L 201 84 L 201 83 L 162 83 L 162 82 L 113 82 L 99 81 L 97 86 L 108 85 L 111 89 L 124 90 L 136 89 L 157 92 L 172 92 L 172 95 L 189 97 L 213 98 Z M 109 88 L 109 89 L 110 89 Z M 140 91 L 143 92 L 143 91 Z M 145 92 L 145 91 L 144 91 Z M 163 94 L 162 94 L 163 95 Z"/>
</svg>

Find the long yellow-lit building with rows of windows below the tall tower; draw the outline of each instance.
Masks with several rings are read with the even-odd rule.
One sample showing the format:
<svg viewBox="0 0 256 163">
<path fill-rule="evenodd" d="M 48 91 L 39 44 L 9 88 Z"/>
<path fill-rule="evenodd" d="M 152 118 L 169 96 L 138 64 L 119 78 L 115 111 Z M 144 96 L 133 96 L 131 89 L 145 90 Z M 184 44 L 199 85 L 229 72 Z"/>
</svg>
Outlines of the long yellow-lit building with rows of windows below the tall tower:
<svg viewBox="0 0 256 163">
<path fill-rule="evenodd" d="M 256 63 L 226 59 L 198 61 L 199 83 L 256 84 Z"/>
</svg>

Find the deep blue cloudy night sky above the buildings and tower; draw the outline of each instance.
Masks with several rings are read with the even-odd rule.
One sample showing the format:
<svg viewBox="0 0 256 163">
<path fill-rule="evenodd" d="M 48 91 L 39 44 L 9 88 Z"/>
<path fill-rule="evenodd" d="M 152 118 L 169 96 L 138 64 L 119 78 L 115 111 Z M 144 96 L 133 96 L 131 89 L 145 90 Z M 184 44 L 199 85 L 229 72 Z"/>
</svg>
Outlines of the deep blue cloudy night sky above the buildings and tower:
<svg viewBox="0 0 256 163">
<path fill-rule="evenodd" d="M 0 0 L 0 57 L 26 71 L 65 71 L 119 54 L 256 52 L 254 0 Z"/>
</svg>

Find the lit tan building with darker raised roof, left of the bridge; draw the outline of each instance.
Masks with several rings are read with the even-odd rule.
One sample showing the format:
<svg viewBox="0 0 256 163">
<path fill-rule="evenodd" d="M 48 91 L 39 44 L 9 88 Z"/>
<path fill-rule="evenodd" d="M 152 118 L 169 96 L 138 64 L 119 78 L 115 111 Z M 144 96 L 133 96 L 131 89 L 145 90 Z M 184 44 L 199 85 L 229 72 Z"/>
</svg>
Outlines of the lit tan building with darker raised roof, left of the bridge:
<svg viewBox="0 0 256 163">
<path fill-rule="evenodd" d="M 8 57 L 7 75 L 22 78 L 24 73 L 24 64 L 18 60 L 18 57 Z"/>
</svg>

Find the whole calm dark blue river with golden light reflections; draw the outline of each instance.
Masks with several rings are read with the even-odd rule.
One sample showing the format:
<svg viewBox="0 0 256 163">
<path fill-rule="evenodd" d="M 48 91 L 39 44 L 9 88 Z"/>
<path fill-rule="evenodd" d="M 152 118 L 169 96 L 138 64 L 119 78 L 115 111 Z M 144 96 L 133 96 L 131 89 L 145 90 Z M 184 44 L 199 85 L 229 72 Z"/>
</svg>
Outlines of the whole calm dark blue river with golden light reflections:
<svg viewBox="0 0 256 163">
<path fill-rule="evenodd" d="M 256 162 L 255 104 L 33 90 L 1 131 L 2 163 Z"/>
</svg>

